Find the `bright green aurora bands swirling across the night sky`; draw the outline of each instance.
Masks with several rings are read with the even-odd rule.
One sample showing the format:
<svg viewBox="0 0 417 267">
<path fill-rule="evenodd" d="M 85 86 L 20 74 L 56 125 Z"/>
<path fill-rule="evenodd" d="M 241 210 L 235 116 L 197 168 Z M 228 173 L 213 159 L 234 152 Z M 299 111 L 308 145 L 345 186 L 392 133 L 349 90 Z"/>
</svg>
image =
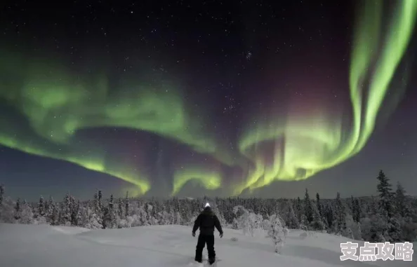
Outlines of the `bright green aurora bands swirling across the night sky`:
<svg viewBox="0 0 417 267">
<path fill-rule="evenodd" d="M 390 24 L 383 25 L 383 1 L 367 0 L 357 15 L 350 59 L 351 128 L 343 119 L 319 107 L 308 115 L 274 116 L 267 123 L 251 124 L 238 140 L 240 157 L 224 151 L 219 140 L 190 115 L 174 85 L 140 85 L 124 81 L 114 88 L 105 74 L 84 76 L 45 58 L 0 50 L 0 101 L 19 111 L 25 125 L 0 114 L 0 144 L 37 156 L 65 160 L 88 170 L 110 174 L 137 186 L 144 194 L 152 177 L 140 167 L 107 153 L 100 144 L 80 144 L 75 136 L 91 128 L 128 128 L 187 144 L 224 165 L 244 170 L 232 184 L 232 195 L 267 186 L 273 181 L 307 179 L 351 158 L 366 145 L 390 82 L 406 52 L 416 22 L 417 1 L 399 1 Z M 137 90 L 123 90 L 135 88 Z M 367 97 L 363 97 L 366 95 Z M 346 137 L 347 136 L 347 137 Z M 263 158 L 263 142 L 274 144 L 272 162 Z M 201 165 L 180 167 L 173 174 L 175 195 L 190 180 L 206 189 L 223 186 L 220 170 Z"/>
</svg>

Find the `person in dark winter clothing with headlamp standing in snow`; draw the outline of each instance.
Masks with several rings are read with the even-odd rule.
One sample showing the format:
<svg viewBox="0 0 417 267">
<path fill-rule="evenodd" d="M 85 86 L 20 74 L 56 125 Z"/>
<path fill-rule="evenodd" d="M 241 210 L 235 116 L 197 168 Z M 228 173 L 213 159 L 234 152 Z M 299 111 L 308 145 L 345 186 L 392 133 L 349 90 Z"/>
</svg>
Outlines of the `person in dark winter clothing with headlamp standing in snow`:
<svg viewBox="0 0 417 267">
<path fill-rule="evenodd" d="M 195 232 L 200 228 L 199 240 L 195 249 L 195 261 L 201 263 L 203 256 L 204 245 L 207 244 L 207 252 L 209 252 L 209 263 L 213 264 L 216 261 L 216 252 L 214 251 L 214 227 L 220 233 L 220 238 L 223 238 L 223 230 L 220 221 L 216 214 L 211 210 L 210 204 L 206 203 L 204 210 L 199 214 L 194 221 L 192 228 L 192 236 L 195 237 Z"/>
</svg>

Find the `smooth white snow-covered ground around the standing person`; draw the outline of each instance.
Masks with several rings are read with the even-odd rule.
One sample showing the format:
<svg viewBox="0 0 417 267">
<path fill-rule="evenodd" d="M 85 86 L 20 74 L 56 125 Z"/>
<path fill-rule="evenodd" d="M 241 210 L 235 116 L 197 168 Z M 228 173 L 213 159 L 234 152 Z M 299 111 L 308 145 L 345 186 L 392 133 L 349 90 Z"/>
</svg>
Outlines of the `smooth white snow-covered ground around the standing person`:
<svg viewBox="0 0 417 267">
<path fill-rule="evenodd" d="M 306 238 L 289 233 L 282 254 L 272 242 L 225 229 L 216 233 L 218 267 L 417 266 L 413 261 L 340 261 L 340 242 L 324 233 Z M 237 241 L 231 240 L 237 238 Z M 186 226 L 143 226 L 93 230 L 77 227 L 0 224 L 1 267 L 186 267 L 192 266 L 197 237 Z M 358 251 L 359 252 L 359 251 Z M 204 249 L 206 254 L 206 249 Z M 415 257 L 414 257 L 415 258 Z"/>
</svg>

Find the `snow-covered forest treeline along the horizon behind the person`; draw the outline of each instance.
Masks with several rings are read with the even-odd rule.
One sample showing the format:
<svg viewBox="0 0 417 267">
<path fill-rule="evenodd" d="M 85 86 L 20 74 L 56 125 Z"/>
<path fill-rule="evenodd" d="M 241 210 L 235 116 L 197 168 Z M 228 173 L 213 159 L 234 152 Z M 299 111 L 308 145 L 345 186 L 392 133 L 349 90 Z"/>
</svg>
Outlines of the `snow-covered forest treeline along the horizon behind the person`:
<svg viewBox="0 0 417 267">
<path fill-rule="evenodd" d="M 0 222 L 50 224 L 84 228 L 126 228 L 146 225 L 191 225 L 204 203 L 210 202 L 225 228 L 241 229 L 253 235 L 267 230 L 272 219 L 283 227 L 305 231 L 325 231 L 369 242 L 413 242 L 417 240 L 417 199 L 407 196 L 401 184 L 392 189 L 390 179 L 380 170 L 378 196 L 369 198 L 320 199 L 319 193 L 304 198 L 197 198 L 145 199 L 103 198 L 81 202 L 67 193 L 62 201 L 42 196 L 37 203 L 5 197 L 0 186 Z M 268 222 L 265 224 L 265 222 Z"/>
</svg>

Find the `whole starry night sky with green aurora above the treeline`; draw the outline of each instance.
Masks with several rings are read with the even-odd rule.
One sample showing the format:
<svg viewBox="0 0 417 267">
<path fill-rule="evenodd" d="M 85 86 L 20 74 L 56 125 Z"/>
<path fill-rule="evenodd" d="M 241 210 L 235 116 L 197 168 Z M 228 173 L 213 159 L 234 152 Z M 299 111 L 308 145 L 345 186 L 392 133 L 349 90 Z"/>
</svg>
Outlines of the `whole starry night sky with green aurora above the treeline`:
<svg viewBox="0 0 417 267">
<path fill-rule="evenodd" d="M 9 196 L 417 194 L 417 1 L 2 1 Z"/>
</svg>

